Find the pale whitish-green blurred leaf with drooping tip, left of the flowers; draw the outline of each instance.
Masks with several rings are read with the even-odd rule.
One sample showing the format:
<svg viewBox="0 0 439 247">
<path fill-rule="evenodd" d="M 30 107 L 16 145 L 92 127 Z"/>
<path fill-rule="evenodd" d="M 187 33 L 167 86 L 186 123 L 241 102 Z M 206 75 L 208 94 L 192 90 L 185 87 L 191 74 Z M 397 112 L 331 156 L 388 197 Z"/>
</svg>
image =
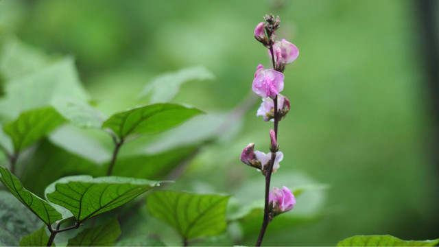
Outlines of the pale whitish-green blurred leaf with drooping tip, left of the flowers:
<svg viewBox="0 0 439 247">
<path fill-rule="evenodd" d="M 169 102 L 180 90 L 180 86 L 191 80 L 212 80 L 215 76 L 205 67 L 190 67 L 173 73 L 158 75 L 147 84 L 139 97 L 152 94 L 150 103 Z"/>
</svg>

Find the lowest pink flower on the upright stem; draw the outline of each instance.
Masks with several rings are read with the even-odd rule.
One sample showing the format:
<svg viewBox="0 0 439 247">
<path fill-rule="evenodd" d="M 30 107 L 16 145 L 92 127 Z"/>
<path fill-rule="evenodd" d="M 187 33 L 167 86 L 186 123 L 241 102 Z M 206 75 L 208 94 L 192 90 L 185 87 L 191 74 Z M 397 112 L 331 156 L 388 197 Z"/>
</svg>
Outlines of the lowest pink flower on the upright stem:
<svg viewBox="0 0 439 247">
<path fill-rule="evenodd" d="M 296 198 L 292 191 L 283 186 L 282 189 L 274 187 L 268 194 L 268 200 L 272 203 L 272 215 L 273 217 L 279 213 L 285 213 L 293 209 L 296 204 Z"/>
</svg>

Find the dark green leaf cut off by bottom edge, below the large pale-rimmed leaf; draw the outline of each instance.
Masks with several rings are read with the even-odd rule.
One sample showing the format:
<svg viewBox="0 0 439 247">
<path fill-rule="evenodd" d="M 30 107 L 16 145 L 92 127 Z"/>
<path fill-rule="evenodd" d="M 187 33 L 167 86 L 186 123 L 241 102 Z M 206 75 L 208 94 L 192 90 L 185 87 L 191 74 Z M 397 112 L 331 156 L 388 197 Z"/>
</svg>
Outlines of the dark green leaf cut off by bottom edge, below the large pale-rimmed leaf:
<svg viewBox="0 0 439 247">
<path fill-rule="evenodd" d="M 121 235 L 121 227 L 116 219 L 110 219 L 99 226 L 84 229 L 67 246 L 114 246 Z"/>
</svg>

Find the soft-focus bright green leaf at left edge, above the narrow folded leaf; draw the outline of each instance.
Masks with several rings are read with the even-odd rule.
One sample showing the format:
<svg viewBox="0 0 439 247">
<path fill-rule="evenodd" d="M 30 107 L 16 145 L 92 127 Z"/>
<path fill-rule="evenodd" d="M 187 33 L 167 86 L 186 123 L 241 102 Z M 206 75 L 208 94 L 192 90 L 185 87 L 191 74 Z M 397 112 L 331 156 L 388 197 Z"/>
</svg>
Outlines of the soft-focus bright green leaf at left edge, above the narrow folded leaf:
<svg viewBox="0 0 439 247">
<path fill-rule="evenodd" d="M 18 153 L 27 146 L 43 139 L 64 121 L 64 117 L 54 108 L 48 106 L 21 113 L 18 119 L 3 126 L 3 130 L 12 137 L 14 151 Z"/>
</svg>

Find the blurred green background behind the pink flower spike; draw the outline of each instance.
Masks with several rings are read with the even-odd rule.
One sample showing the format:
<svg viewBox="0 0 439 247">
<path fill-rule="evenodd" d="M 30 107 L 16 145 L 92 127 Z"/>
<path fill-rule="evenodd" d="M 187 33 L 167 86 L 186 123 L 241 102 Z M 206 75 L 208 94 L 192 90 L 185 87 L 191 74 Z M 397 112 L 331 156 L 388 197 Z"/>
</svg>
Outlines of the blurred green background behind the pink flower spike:
<svg viewBox="0 0 439 247">
<path fill-rule="evenodd" d="M 439 237 L 416 7 L 396 0 L 3 0 L 0 35 L 73 56 L 106 115 L 139 104 L 133 95 L 155 76 L 204 65 L 215 80 L 183 85 L 174 102 L 217 113 L 251 93 L 257 64 L 270 67 L 253 30 L 265 14 L 279 15 L 278 38 L 300 56 L 285 71 L 292 108 L 279 125 L 285 158 L 273 185 L 327 189 L 300 196 L 270 224 L 263 244 L 331 246 L 351 235 Z M 255 117 L 258 105 L 172 187 L 231 193 L 241 203 L 262 198 L 263 178 L 239 161 L 250 142 L 268 152 L 272 123 Z M 239 228 L 239 244 L 254 244 L 261 219 L 254 222 Z"/>
</svg>

